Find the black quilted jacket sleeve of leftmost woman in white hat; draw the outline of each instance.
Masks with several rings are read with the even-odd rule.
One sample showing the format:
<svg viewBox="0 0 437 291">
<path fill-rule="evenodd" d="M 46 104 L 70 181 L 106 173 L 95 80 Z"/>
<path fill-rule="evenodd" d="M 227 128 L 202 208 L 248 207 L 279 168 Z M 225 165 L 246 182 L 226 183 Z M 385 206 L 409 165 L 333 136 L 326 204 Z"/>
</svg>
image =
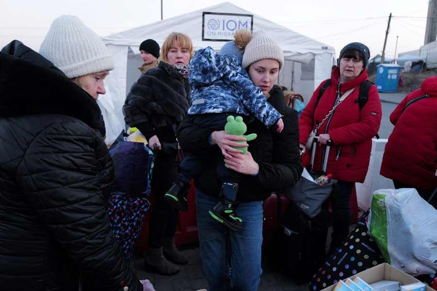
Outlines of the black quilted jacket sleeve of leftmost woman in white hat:
<svg viewBox="0 0 437 291">
<path fill-rule="evenodd" d="M 104 193 L 112 161 L 100 136 L 72 119 L 39 132 L 17 170 L 17 182 L 52 237 L 95 290 L 143 290 L 110 229 Z"/>
</svg>

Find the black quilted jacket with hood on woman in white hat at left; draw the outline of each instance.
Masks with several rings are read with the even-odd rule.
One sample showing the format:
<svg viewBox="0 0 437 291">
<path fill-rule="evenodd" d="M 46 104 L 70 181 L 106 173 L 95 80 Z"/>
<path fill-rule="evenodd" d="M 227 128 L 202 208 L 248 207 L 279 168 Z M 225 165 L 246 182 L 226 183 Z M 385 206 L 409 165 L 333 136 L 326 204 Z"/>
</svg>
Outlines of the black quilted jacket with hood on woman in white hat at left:
<svg viewBox="0 0 437 291">
<path fill-rule="evenodd" d="M 95 100 L 49 61 L 17 41 L 2 50 L 0 290 L 77 291 L 80 277 L 142 290 L 109 227 L 104 132 Z"/>
</svg>

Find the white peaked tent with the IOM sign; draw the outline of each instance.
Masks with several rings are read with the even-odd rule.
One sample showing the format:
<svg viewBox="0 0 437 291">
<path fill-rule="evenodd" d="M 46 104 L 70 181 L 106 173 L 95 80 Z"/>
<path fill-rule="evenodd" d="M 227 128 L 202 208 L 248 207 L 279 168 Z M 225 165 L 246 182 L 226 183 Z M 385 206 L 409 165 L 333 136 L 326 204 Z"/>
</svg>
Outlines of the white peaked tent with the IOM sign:
<svg viewBox="0 0 437 291">
<path fill-rule="evenodd" d="M 203 17 L 205 12 L 238 14 L 252 17 L 252 30 L 264 30 L 273 37 L 284 50 L 286 64 L 279 76 L 279 84 L 301 93 L 307 101 L 319 83 L 330 76 L 334 64 L 333 47 L 293 32 L 261 16 L 253 15 L 229 2 L 204 8 L 180 16 L 175 16 L 148 25 L 133 28 L 102 37 L 107 48 L 114 55 L 115 69 L 105 79 L 106 95 L 99 99 L 106 123 L 107 142 L 113 141 L 124 121 L 121 109 L 132 84 L 140 76 L 137 69 L 141 65 L 140 43 L 148 38 L 156 40 L 161 46 L 170 32 L 183 32 L 191 37 L 194 49 L 211 46 L 220 49 L 226 41 L 204 40 Z M 221 21 L 221 20 L 220 20 Z M 230 20 L 233 21 L 233 20 Z M 237 21 L 238 23 L 238 21 Z M 223 22 L 224 24 L 224 22 Z M 232 24 L 232 22 L 231 22 Z M 220 22 L 217 22 L 217 27 Z M 224 26 L 224 25 L 223 25 Z M 236 26 L 236 25 L 235 25 Z M 213 29 L 217 29 L 213 27 Z M 209 22 L 208 22 L 209 28 Z M 228 27 L 229 28 L 229 27 Z M 232 30 L 235 27 L 231 27 Z M 202 40 L 203 39 L 203 40 Z"/>
</svg>

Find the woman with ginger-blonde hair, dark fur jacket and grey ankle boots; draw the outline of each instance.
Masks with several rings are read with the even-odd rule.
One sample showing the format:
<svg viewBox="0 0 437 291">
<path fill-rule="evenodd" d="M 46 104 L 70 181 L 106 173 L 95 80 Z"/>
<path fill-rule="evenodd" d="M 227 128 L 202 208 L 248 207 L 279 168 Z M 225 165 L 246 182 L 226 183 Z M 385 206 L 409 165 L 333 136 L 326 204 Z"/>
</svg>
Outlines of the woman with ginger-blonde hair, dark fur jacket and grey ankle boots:
<svg viewBox="0 0 437 291">
<path fill-rule="evenodd" d="M 171 208 L 164 194 L 177 177 L 175 129 L 189 108 L 187 79 L 192 56 L 189 36 L 170 33 L 161 48 L 162 61 L 134 83 L 123 106 L 126 124 L 139 129 L 151 149 L 158 148 L 151 181 L 155 205 L 150 219 L 145 267 L 149 272 L 161 275 L 176 274 L 179 268 L 173 263 L 188 262 L 174 243 L 179 211 Z"/>
</svg>

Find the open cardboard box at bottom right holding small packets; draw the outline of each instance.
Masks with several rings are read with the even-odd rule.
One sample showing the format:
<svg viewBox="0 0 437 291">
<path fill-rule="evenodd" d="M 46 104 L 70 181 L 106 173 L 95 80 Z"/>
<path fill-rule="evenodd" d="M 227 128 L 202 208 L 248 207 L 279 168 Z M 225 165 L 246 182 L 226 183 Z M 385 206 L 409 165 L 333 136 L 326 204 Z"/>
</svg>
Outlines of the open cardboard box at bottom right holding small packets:
<svg viewBox="0 0 437 291">
<path fill-rule="evenodd" d="M 360 277 L 368 284 L 375 283 L 381 280 L 399 281 L 401 285 L 407 285 L 411 283 L 420 282 L 418 279 L 399 271 L 398 269 L 390 266 L 387 263 L 382 263 L 366 271 L 360 272 L 349 278 L 353 280 L 355 277 Z M 346 279 L 346 278 L 345 278 Z M 345 280 L 343 279 L 343 280 Z M 332 291 L 336 284 L 326 287 L 321 291 Z M 425 285 L 426 286 L 426 285 Z M 429 286 L 426 286 L 426 291 L 436 291 Z"/>
</svg>

